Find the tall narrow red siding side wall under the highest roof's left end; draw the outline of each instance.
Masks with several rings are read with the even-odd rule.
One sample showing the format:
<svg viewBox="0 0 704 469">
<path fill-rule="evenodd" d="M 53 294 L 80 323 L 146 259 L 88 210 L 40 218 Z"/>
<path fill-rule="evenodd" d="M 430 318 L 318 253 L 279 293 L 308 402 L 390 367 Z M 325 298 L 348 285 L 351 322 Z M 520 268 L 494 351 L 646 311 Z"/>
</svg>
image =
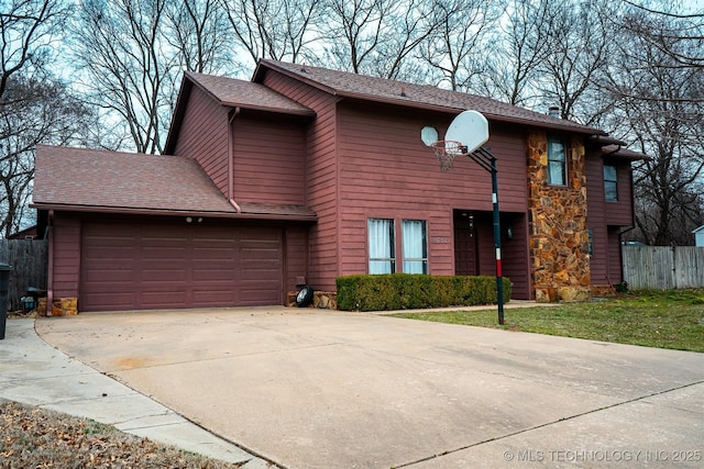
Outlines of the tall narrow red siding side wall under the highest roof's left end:
<svg viewBox="0 0 704 469">
<path fill-rule="evenodd" d="M 318 290 L 334 290 L 334 279 L 340 275 L 339 175 L 334 158 L 338 98 L 274 71 L 266 74 L 264 85 L 316 112 L 306 135 L 306 204 L 318 215 L 310 231 L 308 282 Z"/>
</svg>

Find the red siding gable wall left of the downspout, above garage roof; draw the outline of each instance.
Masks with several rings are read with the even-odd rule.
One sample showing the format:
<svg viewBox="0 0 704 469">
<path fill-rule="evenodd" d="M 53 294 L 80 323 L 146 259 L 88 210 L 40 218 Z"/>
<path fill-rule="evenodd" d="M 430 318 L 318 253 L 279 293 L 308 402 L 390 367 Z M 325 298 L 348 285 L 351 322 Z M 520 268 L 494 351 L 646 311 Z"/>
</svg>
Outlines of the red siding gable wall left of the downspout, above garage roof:
<svg viewBox="0 0 704 469">
<path fill-rule="evenodd" d="M 193 88 L 175 155 L 196 158 L 223 194 L 228 194 L 228 108 Z"/>
</svg>

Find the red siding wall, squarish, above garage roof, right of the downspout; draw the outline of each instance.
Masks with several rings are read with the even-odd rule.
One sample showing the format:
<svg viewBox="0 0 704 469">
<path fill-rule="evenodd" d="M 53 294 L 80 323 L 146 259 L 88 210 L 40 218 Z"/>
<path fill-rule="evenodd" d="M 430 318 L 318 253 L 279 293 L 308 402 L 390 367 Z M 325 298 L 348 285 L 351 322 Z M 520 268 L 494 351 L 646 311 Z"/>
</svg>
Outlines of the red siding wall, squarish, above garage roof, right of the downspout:
<svg viewBox="0 0 704 469">
<path fill-rule="evenodd" d="M 234 200 L 305 204 L 305 125 L 240 115 L 232 127 Z"/>
</svg>

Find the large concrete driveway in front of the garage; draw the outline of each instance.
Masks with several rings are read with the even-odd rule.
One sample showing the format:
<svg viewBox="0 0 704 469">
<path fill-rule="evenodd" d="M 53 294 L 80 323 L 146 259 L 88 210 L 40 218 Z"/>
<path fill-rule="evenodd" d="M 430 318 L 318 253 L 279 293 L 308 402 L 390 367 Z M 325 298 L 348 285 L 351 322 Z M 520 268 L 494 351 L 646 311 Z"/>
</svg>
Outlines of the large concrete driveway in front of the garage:
<svg viewBox="0 0 704 469">
<path fill-rule="evenodd" d="M 704 464 L 704 354 L 284 308 L 36 331 L 286 468 Z"/>
</svg>

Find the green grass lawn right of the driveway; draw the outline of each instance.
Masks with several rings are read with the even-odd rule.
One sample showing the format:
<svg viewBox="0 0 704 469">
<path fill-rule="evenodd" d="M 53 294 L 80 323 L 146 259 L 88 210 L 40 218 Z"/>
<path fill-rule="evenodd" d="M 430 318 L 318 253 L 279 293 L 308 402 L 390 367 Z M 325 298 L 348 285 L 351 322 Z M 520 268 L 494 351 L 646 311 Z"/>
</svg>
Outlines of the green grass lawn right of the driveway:
<svg viewBox="0 0 704 469">
<path fill-rule="evenodd" d="M 588 303 L 506 309 L 503 326 L 495 308 L 394 316 L 704 353 L 704 289 L 635 291 Z"/>
</svg>

